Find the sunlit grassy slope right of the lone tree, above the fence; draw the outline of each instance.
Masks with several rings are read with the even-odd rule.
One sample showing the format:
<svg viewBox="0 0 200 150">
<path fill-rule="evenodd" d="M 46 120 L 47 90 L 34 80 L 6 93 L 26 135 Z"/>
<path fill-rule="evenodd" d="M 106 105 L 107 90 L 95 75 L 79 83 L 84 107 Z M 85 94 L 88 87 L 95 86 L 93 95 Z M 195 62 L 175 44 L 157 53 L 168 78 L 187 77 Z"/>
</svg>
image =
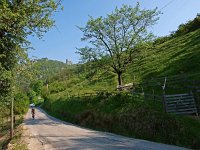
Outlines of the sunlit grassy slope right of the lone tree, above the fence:
<svg viewBox="0 0 200 150">
<path fill-rule="evenodd" d="M 142 80 L 200 73 L 200 30 L 144 50 L 128 72 Z"/>
</svg>

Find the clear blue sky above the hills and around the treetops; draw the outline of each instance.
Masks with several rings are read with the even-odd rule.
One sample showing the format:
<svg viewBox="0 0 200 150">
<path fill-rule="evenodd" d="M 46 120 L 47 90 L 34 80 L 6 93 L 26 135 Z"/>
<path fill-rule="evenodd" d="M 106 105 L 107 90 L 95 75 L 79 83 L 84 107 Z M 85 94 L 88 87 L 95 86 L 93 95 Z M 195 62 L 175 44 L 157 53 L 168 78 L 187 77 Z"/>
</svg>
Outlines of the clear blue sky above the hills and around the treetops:
<svg viewBox="0 0 200 150">
<path fill-rule="evenodd" d="M 35 50 L 29 50 L 29 57 L 47 57 L 65 62 L 66 59 L 78 63 L 76 47 L 84 47 L 82 32 L 76 27 L 84 27 L 88 16 L 99 17 L 111 13 L 123 4 L 135 6 L 139 1 L 142 8 L 158 7 L 162 11 L 160 20 L 151 28 L 156 36 L 164 36 L 175 31 L 200 13 L 200 0 L 63 0 L 64 10 L 54 15 L 56 27 L 47 32 L 42 39 L 29 37 Z M 163 9 L 162 9 L 163 8 Z"/>
</svg>

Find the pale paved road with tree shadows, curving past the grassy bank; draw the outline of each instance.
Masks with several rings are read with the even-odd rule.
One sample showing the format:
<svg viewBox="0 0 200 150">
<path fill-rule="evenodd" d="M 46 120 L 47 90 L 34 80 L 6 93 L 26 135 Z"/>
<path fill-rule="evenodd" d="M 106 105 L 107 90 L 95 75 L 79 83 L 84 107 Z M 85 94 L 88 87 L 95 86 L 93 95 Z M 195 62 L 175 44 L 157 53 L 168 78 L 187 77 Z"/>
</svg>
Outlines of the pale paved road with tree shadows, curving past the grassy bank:
<svg viewBox="0 0 200 150">
<path fill-rule="evenodd" d="M 98 132 L 60 121 L 36 109 L 36 119 L 31 119 L 30 110 L 25 118 L 25 127 L 39 140 L 42 149 L 69 150 L 184 150 L 185 148 L 127 138 L 111 133 Z M 31 139 L 30 139 L 31 140 Z M 35 144 L 32 149 L 38 148 Z M 185 149 L 186 150 L 186 149 Z"/>
</svg>

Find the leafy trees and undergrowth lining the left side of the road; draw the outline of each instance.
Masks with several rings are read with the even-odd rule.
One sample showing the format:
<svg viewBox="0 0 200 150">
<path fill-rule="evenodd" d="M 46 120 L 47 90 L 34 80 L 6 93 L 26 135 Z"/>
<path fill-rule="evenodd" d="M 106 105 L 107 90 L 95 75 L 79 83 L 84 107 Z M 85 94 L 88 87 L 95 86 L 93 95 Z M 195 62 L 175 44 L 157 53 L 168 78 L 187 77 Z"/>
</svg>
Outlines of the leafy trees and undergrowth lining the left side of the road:
<svg viewBox="0 0 200 150">
<path fill-rule="evenodd" d="M 3 143 L 0 149 L 6 147 L 13 128 L 13 112 L 17 122 L 17 116 L 26 113 L 29 98 L 38 96 L 30 90 L 28 37 L 41 38 L 54 25 L 52 16 L 59 8 L 60 1 L 0 1 L 0 143 Z M 10 111 L 11 108 L 14 110 Z M 12 139 L 13 134 L 9 138 Z"/>
</svg>

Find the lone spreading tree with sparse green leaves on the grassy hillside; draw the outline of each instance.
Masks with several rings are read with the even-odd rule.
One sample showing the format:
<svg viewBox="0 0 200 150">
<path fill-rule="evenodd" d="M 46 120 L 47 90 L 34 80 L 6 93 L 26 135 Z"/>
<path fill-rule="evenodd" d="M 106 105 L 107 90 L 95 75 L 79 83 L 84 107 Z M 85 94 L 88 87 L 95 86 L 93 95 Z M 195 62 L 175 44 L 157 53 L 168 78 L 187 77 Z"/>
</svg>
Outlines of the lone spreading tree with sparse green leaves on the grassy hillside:
<svg viewBox="0 0 200 150">
<path fill-rule="evenodd" d="M 133 61 L 135 47 L 153 37 L 148 29 L 159 19 L 158 14 L 157 8 L 144 10 L 137 3 L 134 8 L 127 5 L 116 8 L 106 17 L 90 17 L 85 27 L 79 27 L 83 32 L 82 40 L 90 44 L 78 49 L 78 53 L 83 61 L 106 58 L 108 64 L 109 60 L 108 65 L 122 85 L 122 74 Z"/>
</svg>

